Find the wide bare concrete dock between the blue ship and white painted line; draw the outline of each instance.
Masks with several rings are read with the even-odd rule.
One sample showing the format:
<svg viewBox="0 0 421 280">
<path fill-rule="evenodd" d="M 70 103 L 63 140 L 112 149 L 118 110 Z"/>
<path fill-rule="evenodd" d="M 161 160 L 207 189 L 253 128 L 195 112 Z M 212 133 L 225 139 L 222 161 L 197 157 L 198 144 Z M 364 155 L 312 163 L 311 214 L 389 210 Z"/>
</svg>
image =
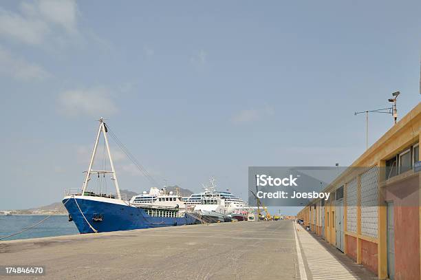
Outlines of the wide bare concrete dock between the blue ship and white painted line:
<svg viewBox="0 0 421 280">
<path fill-rule="evenodd" d="M 311 279 L 296 236 L 285 220 L 23 239 L 0 242 L 0 263 L 45 266 L 37 279 Z"/>
</svg>

